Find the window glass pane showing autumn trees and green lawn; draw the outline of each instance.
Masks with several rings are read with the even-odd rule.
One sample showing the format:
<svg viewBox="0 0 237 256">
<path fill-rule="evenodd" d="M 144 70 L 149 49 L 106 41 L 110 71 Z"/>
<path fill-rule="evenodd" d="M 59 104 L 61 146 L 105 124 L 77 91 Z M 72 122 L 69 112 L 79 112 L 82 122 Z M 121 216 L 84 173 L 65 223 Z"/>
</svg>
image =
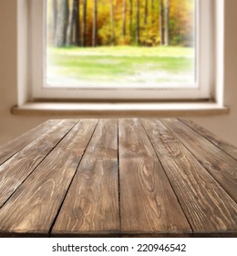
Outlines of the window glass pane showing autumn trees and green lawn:
<svg viewBox="0 0 237 256">
<path fill-rule="evenodd" d="M 196 83 L 195 0 L 47 0 L 46 85 Z"/>
</svg>

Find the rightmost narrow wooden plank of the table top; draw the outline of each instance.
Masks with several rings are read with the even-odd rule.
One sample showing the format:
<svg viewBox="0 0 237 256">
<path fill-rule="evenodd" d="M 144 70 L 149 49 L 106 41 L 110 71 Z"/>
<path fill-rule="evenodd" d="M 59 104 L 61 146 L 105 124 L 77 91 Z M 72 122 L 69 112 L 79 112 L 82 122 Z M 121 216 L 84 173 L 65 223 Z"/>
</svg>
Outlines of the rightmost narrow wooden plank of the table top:
<svg viewBox="0 0 237 256">
<path fill-rule="evenodd" d="M 235 160 L 237 160 L 237 147 L 233 146 L 232 144 L 226 143 L 219 139 L 215 134 L 207 131 L 197 123 L 193 123 L 191 120 L 187 119 L 179 119 L 180 122 L 187 124 L 190 126 L 194 131 L 200 133 L 204 138 L 209 140 L 212 144 L 217 145 L 220 147 L 224 152 L 231 155 Z"/>
</svg>

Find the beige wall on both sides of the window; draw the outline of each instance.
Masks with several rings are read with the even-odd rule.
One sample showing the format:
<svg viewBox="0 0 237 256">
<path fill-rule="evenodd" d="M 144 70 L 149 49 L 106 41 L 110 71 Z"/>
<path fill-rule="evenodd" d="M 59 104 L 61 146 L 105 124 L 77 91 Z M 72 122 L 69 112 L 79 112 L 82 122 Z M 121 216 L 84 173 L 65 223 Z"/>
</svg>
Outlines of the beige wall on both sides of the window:
<svg viewBox="0 0 237 256">
<path fill-rule="evenodd" d="M 224 116 L 191 116 L 191 119 L 237 145 L 237 1 L 225 2 L 224 100 L 231 112 Z M 50 118 L 10 114 L 10 108 L 17 102 L 16 3 L 17 0 L 0 0 L 0 144 Z"/>
</svg>

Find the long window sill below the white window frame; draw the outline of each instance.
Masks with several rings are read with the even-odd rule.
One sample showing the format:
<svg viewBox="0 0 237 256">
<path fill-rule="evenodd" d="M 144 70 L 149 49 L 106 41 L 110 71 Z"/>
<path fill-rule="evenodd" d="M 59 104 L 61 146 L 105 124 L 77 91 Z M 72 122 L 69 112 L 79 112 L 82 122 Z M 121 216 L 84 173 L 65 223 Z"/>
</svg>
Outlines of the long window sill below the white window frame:
<svg viewBox="0 0 237 256">
<path fill-rule="evenodd" d="M 11 112 L 20 115 L 77 115 L 81 117 L 171 117 L 220 115 L 229 113 L 229 109 L 214 102 L 27 102 L 22 106 L 13 107 Z"/>
</svg>

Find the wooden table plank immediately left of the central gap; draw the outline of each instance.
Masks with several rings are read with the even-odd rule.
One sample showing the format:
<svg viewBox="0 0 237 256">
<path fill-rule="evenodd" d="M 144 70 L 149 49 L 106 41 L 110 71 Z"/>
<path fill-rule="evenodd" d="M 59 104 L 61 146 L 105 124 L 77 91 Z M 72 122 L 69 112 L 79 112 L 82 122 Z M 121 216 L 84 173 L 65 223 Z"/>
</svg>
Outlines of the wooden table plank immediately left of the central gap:
<svg viewBox="0 0 237 256">
<path fill-rule="evenodd" d="M 98 123 L 52 233 L 118 230 L 118 121 L 108 119 Z"/>
</svg>

